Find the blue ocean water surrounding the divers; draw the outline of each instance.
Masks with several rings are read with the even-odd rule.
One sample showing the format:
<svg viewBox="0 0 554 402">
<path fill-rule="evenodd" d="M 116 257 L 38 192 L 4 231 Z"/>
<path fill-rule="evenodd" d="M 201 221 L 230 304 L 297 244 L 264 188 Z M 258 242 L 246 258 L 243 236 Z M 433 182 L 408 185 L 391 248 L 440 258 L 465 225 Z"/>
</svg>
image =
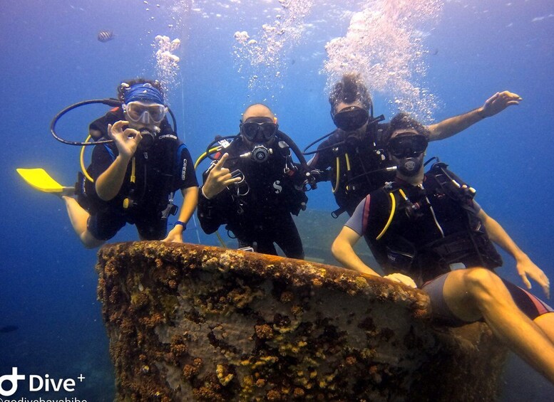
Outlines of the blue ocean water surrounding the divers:
<svg viewBox="0 0 554 402">
<path fill-rule="evenodd" d="M 15 171 L 43 167 L 64 184 L 75 181 L 78 149 L 54 141 L 48 132 L 56 112 L 80 100 L 113 97 L 125 78 L 155 77 L 154 38 L 167 35 L 182 42 L 169 98 L 193 157 L 215 134 L 235 134 L 240 113 L 252 102 L 270 105 L 280 128 L 303 148 L 333 129 L 322 73 L 324 46 L 347 33 L 352 12 L 375 2 L 314 0 L 299 38 L 275 51 L 278 70 L 237 58 L 234 34 L 260 37 L 264 23 L 286 12 L 286 1 L 5 2 L 0 7 L 0 327 L 17 329 L 0 332 L 0 375 L 11 367 L 56 379 L 83 374 L 86 379 L 67 396 L 113 399 L 108 340 L 96 301 L 96 253 L 78 242 L 63 203 L 31 190 Z M 113 41 L 98 41 L 101 30 L 113 31 Z M 421 38 L 428 49 L 421 83 L 439 100 L 435 121 L 478 107 L 499 90 L 523 97 L 520 105 L 431 144 L 428 153 L 478 189 L 481 206 L 553 279 L 554 2 L 444 1 Z M 252 81 L 256 74 L 259 81 Z M 377 114 L 396 112 L 395 94 L 373 95 Z M 84 139 L 88 122 L 104 111 L 82 108 L 60 129 L 70 139 Z M 309 196 L 309 208 L 335 208 L 329 186 Z M 215 244 L 193 228 L 185 237 Z M 113 241 L 135 238 L 128 228 Z M 519 284 L 513 262 L 505 260 L 503 276 Z M 532 292 L 543 297 L 537 285 Z M 554 386 L 517 360 L 508 366 L 505 382 L 502 401 L 554 400 Z"/>
</svg>

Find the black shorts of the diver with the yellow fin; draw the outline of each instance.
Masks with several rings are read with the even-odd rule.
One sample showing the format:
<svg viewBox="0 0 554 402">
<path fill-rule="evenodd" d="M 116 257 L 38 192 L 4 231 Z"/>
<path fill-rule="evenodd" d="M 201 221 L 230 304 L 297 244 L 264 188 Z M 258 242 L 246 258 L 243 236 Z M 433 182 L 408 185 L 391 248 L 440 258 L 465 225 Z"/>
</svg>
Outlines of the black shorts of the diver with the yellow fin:
<svg viewBox="0 0 554 402">
<path fill-rule="evenodd" d="M 168 220 L 161 218 L 158 212 L 130 214 L 109 208 L 91 215 L 86 227 L 98 240 L 109 240 L 126 223 L 134 224 L 143 240 L 163 240 L 168 232 Z"/>
</svg>

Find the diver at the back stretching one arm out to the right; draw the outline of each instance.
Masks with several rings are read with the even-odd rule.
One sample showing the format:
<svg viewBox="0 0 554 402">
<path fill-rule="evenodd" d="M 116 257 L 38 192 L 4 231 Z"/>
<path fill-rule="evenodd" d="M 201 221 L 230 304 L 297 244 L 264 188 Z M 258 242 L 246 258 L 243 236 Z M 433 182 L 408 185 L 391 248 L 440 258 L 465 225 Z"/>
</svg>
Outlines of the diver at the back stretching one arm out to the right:
<svg viewBox="0 0 554 402">
<path fill-rule="evenodd" d="M 496 93 L 482 107 L 430 125 L 429 140 L 451 137 L 510 105 L 518 105 L 520 100 L 519 95 L 508 91 Z M 371 96 L 357 74 L 344 75 L 334 85 L 329 103 L 337 129 L 309 144 L 304 149 L 304 155 L 314 154 L 308 164 L 312 169 L 321 171 L 319 181 L 332 182 L 332 191 L 339 206 L 333 216 L 337 217 L 344 211 L 352 216 L 359 201 L 394 177 L 394 165 L 387 158 L 382 140 L 388 124 L 381 123 L 383 115 L 374 117 Z M 322 139 L 325 141 L 319 144 L 317 151 L 306 152 Z"/>
</svg>

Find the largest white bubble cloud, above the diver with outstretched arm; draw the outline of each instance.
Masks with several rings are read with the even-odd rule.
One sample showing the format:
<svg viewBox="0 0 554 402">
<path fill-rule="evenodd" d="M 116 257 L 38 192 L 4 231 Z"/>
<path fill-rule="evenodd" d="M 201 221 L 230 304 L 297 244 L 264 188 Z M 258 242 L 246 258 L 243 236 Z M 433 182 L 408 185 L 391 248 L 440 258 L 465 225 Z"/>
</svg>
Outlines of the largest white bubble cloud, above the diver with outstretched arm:
<svg viewBox="0 0 554 402">
<path fill-rule="evenodd" d="M 436 97 L 421 87 L 428 53 L 423 31 L 441 14 L 441 0 L 373 0 L 354 13 L 346 36 L 327 43 L 328 85 L 344 73 L 359 73 L 371 92 L 394 94 L 400 110 L 429 121 Z"/>
</svg>

